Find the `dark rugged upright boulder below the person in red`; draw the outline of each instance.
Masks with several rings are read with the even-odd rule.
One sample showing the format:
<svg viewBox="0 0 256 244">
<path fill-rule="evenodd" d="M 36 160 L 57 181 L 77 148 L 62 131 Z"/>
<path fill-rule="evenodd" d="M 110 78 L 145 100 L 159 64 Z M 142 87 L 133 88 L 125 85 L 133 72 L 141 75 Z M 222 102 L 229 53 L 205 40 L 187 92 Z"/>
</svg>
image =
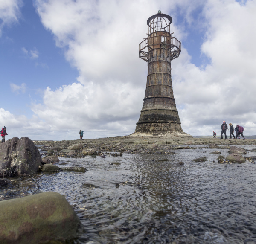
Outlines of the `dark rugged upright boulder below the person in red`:
<svg viewBox="0 0 256 244">
<path fill-rule="evenodd" d="M 33 174 L 41 164 L 38 148 L 28 137 L 0 143 L 0 177 Z"/>
</svg>

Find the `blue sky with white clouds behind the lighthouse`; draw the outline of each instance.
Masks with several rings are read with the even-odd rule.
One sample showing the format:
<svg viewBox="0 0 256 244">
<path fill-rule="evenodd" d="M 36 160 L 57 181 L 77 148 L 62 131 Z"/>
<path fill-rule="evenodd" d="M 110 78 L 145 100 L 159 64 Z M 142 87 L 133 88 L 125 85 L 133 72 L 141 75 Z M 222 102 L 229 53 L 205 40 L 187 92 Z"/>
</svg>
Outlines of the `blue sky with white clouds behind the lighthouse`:
<svg viewBox="0 0 256 244">
<path fill-rule="evenodd" d="M 255 135 L 256 0 L 0 0 L 8 137 L 133 133 L 147 75 L 138 47 L 159 9 L 182 43 L 172 83 L 183 131 L 218 134 L 226 120 Z"/>
</svg>

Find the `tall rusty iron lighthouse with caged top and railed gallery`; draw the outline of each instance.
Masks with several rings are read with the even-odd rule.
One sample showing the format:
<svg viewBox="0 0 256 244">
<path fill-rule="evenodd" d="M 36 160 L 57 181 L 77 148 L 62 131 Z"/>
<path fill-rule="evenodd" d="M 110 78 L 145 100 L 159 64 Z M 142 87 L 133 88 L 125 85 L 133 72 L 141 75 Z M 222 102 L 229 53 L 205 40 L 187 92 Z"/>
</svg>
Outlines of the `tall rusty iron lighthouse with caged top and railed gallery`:
<svg viewBox="0 0 256 244">
<path fill-rule="evenodd" d="M 140 43 L 139 55 L 148 62 L 148 76 L 135 133 L 183 134 L 173 96 L 171 74 L 171 61 L 179 57 L 181 43 L 170 33 L 171 23 L 172 17 L 160 10 L 147 20 L 148 37 Z M 147 52 L 145 48 L 148 48 Z"/>
</svg>

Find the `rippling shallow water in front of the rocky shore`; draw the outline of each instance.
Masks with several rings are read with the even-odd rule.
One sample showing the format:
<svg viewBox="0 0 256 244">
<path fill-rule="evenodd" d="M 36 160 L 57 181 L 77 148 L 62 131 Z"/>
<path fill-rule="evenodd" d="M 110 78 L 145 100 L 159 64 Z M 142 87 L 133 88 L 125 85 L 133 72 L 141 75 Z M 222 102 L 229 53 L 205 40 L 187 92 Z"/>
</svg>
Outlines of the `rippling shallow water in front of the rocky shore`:
<svg viewBox="0 0 256 244">
<path fill-rule="evenodd" d="M 0 200 L 61 193 L 84 224 L 85 233 L 75 243 L 255 243 L 256 164 L 219 164 L 212 151 L 228 154 L 228 149 L 202 148 L 60 158 L 60 167 L 88 171 L 18 177 L 1 191 Z M 256 152 L 246 156 L 252 155 Z M 208 161 L 192 161 L 203 156 Z"/>
</svg>

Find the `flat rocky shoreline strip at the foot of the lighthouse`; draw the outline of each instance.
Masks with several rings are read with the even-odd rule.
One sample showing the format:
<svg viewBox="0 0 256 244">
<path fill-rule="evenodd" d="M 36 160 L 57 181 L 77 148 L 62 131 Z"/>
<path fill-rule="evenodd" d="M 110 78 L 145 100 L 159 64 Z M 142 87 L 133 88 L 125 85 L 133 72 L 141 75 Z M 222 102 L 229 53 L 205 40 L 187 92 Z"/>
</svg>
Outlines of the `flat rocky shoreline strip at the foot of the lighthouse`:
<svg viewBox="0 0 256 244">
<path fill-rule="evenodd" d="M 256 145 L 256 139 L 218 139 L 192 136 L 122 136 L 99 139 L 63 140 L 63 141 L 33 141 L 44 156 L 50 157 L 48 163 L 53 163 L 51 156 L 57 157 L 86 157 L 122 156 L 123 153 L 139 154 L 172 154 L 174 150 L 184 148 L 209 148 L 210 144 L 230 148 L 230 145 Z M 52 161 L 52 162 L 51 162 Z M 47 163 L 47 162 L 46 162 Z"/>
</svg>

